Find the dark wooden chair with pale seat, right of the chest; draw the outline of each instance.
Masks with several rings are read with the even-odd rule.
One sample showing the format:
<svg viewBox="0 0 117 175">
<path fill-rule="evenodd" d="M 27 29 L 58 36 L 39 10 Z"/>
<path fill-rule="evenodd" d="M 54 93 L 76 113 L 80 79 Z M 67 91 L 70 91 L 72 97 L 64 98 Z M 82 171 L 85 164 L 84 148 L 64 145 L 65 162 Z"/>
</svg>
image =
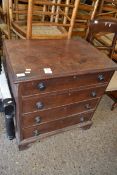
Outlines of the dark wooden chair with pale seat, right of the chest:
<svg viewBox="0 0 117 175">
<path fill-rule="evenodd" d="M 111 45 L 108 45 L 108 43 L 105 45 L 106 42 L 104 43 L 102 40 L 99 40 L 100 35 L 96 36 L 96 34 L 99 34 L 100 32 L 102 32 L 101 36 L 102 34 L 104 35 L 104 33 L 113 33 Z M 117 19 L 98 19 L 91 21 L 89 25 L 89 34 L 87 41 L 96 46 L 98 49 L 101 49 L 103 51 L 106 50 L 109 57 L 113 59 L 117 41 Z M 117 71 L 114 73 L 106 89 L 106 94 L 114 100 L 114 104 L 111 108 L 113 110 L 117 106 Z"/>
</svg>

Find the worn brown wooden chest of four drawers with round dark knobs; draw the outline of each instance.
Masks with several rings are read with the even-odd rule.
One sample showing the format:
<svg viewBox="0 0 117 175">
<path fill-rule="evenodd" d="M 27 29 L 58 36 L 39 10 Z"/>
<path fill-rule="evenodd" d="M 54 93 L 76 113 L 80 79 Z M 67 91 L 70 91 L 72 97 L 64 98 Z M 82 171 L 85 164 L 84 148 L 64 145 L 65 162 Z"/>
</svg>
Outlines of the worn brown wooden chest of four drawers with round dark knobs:
<svg viewBox="0 0 117 175">
<path fill-rule="evenodd" d="M 89 128 L 117 68 L 82 39 L 5 41 L 4 55 L 19 148 L 76 126 Z"/>
</svg>

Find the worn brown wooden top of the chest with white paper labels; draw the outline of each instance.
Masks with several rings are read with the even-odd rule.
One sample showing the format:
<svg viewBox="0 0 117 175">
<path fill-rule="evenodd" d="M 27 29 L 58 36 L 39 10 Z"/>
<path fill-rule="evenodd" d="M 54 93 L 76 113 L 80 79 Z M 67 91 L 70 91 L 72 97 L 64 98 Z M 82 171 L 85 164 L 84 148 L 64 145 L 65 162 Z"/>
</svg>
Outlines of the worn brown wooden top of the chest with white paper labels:
<svg viewBox="0 0 117 175">
<path fill-rule="evenodd" d="M 83 39 L 7 40 L 4 53 L 15 83 L 117 70 L 113 61 Z"/>
</svg>

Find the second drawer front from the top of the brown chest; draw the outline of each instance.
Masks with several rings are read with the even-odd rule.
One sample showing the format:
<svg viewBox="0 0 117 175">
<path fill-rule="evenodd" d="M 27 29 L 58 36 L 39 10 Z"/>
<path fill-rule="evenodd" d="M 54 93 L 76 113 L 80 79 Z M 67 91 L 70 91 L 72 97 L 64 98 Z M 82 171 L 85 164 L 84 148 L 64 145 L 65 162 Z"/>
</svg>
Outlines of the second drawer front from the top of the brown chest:
<svg viewBox="0 0 117 175">
<path fill-rule="evenodd" d="M 102 96 L 106 86 L 22 99 L 22 112 L 45 110 Z"/>
</svg>

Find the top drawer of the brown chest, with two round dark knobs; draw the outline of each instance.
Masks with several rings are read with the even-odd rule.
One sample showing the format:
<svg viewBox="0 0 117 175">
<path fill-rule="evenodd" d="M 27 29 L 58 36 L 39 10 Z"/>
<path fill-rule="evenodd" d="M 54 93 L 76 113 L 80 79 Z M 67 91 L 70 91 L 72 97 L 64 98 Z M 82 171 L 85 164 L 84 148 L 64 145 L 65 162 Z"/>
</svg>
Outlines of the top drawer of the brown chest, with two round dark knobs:
<svg viewBox="0 0 117 175">
<path fill-rule="evenodd" d="M 30 81 L 21 83 L 22 96 L 33 94 L 45 94 L 52 91 L 74 89 L 80 86 L 89 86 L 108 82 L 113 72 L 101 72 L 95 74 L 77 75 L 61 78 L 46 79 L 41 81 Z"/>
</svg>

